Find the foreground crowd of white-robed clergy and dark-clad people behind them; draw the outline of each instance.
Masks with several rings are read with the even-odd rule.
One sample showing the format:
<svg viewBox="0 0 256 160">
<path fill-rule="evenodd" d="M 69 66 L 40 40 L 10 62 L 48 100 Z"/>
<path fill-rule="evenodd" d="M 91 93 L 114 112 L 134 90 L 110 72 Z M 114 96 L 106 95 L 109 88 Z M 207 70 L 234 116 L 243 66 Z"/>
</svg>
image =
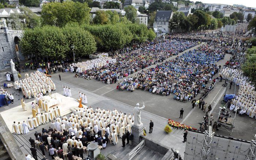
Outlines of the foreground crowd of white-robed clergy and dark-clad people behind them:
<svg viewBox="0 0 256 160">
<path fill-rule="evenodd" d="M 122 111 L 104 110 L 92 107 L 81 108 L 75 113 L 71 112 L 69 117 L 56 115 L 50 124 L 49 129 L 42 129 L 41 133 L 36 132 L 36 140 L 30 138 L 32 150 L 36 146 L 45 155 L 45 150 L 54 159 L 58 156 L 64 159 L 64 155 L 78 156 L 83 158 L 86 147 L 90 143 L 96 143 L 100 148 L 105 149 L 107 144 L 118 143 L 118 137 L 125 138 L 127 144 L 131 143 L 131 126 L 134 118 L 131 114 L 126 115 Z M 34 122 L 28 122 L 34 123 Z M 44 119 L 39 119 L 40 124 L 44 124 Z M 26 134 L 31 130 L 29 124 L 13 124 L 13 131 L 16 134 Z M 125 144 L 123 144 L 125 146 Z M 32 151 L 31 150 L 31 151 Z M 36 153 L 32 155 L 35 159 Z"/>
</svg>

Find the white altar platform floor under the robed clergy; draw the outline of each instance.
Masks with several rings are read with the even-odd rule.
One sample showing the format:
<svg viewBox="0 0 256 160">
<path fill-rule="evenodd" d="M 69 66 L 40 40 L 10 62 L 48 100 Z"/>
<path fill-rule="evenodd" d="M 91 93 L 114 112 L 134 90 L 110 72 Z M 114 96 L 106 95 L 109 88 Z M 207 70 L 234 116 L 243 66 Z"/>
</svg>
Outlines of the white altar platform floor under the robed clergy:
<svg viewBox="0 0 256 160">
<path fill-rule="evenodd" d="M 58 106 L 58 108 L 60 108 L 61 116 L 71 113 L 71 109 L 78 107 L 79 102 L 76 99 L 72 97 L 63 96 L 59 93 L 55 94 L 56 98 L 61 99 L 61 101 L 59 104 L 51 106 L 50 109 L 53 109 L 54 107 Z M 25 120 L 26 122 L 28 117 L 32 118 L 32 102 L 35 103 L 35 101 L 30 101 L 29 103 L 26 103 L 27 111 L 23 111 L 22 106 L 19 105 L 18 107 L 14 107 L 0 113 L 11 133 L 13 133 L 12 124 L 14 121 L 18 124 L 18 122 L 23 123 L 23 120 Z M 85 105 L 83 106 L 85 107 Z M 41 113 L 44 113 L 44 111 L 42 111 L 42 108 L 40 108 L 40 111 Z"/>
</svg>

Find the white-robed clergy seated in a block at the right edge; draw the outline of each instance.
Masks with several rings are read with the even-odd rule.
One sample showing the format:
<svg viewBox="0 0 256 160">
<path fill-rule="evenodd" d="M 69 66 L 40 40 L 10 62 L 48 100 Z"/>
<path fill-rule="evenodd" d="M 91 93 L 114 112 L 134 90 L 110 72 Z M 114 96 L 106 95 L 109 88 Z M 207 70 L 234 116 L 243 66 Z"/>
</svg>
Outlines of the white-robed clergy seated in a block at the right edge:
<svg viewBox="0 0 256 160">
<path fill-rule="evenodd" d="M 235 98 L 231 101 L 230 110 L 239 111 L 239 114 L 246 114 L 253 118 L 256 114 L 256 92 L 255 88 L 248 82 L 248 77 L 243 75 L 242 70 L 230 67 L 223 68 L 223 75 L 229 77 L 236 85 L 239 85 L 239 90 Z M 255 117 L 256 118 L 256 117 Z"/>
</svg>

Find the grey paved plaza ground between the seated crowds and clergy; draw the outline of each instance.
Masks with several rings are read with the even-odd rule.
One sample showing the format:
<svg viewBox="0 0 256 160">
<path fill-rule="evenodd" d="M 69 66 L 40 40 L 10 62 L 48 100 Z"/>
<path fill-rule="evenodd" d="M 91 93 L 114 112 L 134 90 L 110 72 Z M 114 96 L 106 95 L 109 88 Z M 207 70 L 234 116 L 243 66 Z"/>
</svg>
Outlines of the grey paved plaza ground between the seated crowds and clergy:
<svg viewBox="0 0 256 160">
<path fill-rule="evenodd" d="M 199 45 L 198 45 L 199 46 Z M 191 49 L 194 49 L 198 46 L 195 46 Z M 191 50 L 189 49 L 189 50 Z M 179 53 L 181 55 L 182 53 Z M 167 60 L 173 59 L 177 56 L 172 56 L 168 58 Z M 223 66 L 227 60 L 229 60 L 231 57 L 230 54 L 226 54 L 225 58 L 223 60 L 220 60 L 218 62 L 218 65 Z M 155 65 L 150 66 L 155 67 Z M 145 68 L 144 70 L 146 70 Z M 34 70 L 32 70 L 34 71 Z M 29 72 L 32 72 L 29 70 Z M 137 74 L 138 72 L 135 72 L 134 74 L 130 75 L 129 77 Z M 24 77 L 25 73 L 21 73 L 21 76 Z M 146 130 L 148 131 L 149 128 L 149 122 L 152 120 L 154 122 L 154 128 L 152 134 L 147 134 L 146 137 L 149 139 L 153 139 L 156 142 L 159 142 L 162 145 L 167 146 L 168 148 L 174 148 L 179 150 L 181 153 L 181 156 L 183 157 L 184 151 L 185 151 L 185 144 L 182 143 L 183 141 L 183 130 L 177 130 L 173 129 L 171 134 L 166 134 L 164 132 L 164 126 L 167 124 L 168 119 L 172 119 L 184 124 L 187 124 L 189 126 L 192 126 L 194 128 L 199 128 L 199 122 L 203 121 L 203 116 L 205 113 L 201 111 L 199 108 L 195 107 L 192 109 L 192 104 L 190 101 L 187 103 L 183 103 L 180 101 L 176 101 L 173 99 L 174 94 L 170 94 L 170 96 L 160 96 L 156 94 L 152 94 L 149 92 L 145 92 L 142 90 L 135 90 L 134 92 L 128 92 L 126 90 L 120 91 L 116 89 L 116 85 L 118 83 L 114 84 L 105 84 L 103 82 L 96 81 L 94 79 L 86 80 L 84 78 L 74 78 L 74 73 L 70 72 L 64 72 L 60 73 L 62 81 L 59 80 L 59 73 L 52 74 L 52 81 L 56 85 L 56 93 L 63 94 L 63 88 L 62 85 L 68 86 L 68 88 L 71 89 L 72 97 L 77 99 L 78 98 L 78 92 L 81 91 L 82 93 L 85 93 L 88 99 L 87 106 L 92 106 L 94 109 L 99 107 L 101 109 L 111 109 L 114 110 L 116 108 L 118 111 L 122 111 L 123 113 L 129 114 L 133 113 L 133 107 L 136 105 L 136 103 L 140 103 L 142 105 L 142 102 L 145 103 L 145 108 L 142 111 L 142 123 L 146 127 Z M 123 79 L 120 79 L 119 81 L 122 81 Z M 212 92 L 209 94 L 207 98 L 205 98 L 205 103 L 211 104 L 215 96 L 219 93 L 219 90 L 222 88 L 223 82 L 218 82 L 212 90 Z M 236 90 L 234 90 L 234 86 L 232 86 L 231 89 L 227 89 L 227 94 L 234 94 L 234 92 L 237 92 L 238 86 L 236 87 Z M 8 89 L 10 93 L 14 93 L 15 90 L 13 88 Z M 15 92 L 16 94 L 17 92 Z M 220 93 L 220 96 L 217 97 L 217 101 L 214 102 L 213 112 L 214 119 L 217 119 L 218 114 L 216 114 L 219 110 L 219 107 L 222 106 L 222 97 L 223 97 L 224 91 Z M 22 97 L 20 93 L 20 97 Z M 10 104 L 9 106 L 4 106 L 0 108 L 0 112 L 6 111 L 10 108 L 17 107 L 20 104 L 20 100 L 18 100 L 19 96 L 18 94 L 14 96 L 14 104 Z M 196 98 L 200 98 L 200 95 Z M 28 103 L 30 101 L 34 100 L 32 99 L 26 99 L 25 103 Z M 71 104 L 72 106 L 72 104 Z M 183 108 L 184 114 L 183 119 L 179 118 L 179 110 Z M 72 109 L 72 108 L 71 108 Z M 253 135 L 256 133 L 256 120 L 254 118 L 249 118 L 248 116 L 238 116 L 235 121 L 235 128 L 233 133 L 231 134 L 234 138 L 239 139 L 245 139 L 250 141 L 253 138 Z M 38 131 L 41 132 L 41 129 L 43 127 L 48 127 L 48 124 L 40 125 L 37 129 L 34 129 L 30 131 L 29 134 L 23 135 L 24 141 L 28 140 L 29 137 L 34 137 L 34 132 Z M 222 134 L 225 136 L 229 136 L 229 133 L 224 131 L 218 131 L 216 132 L 218 134 Z M 102 150 L 101 152 L 107 156 L 109 154 L 114 154 L 112 151 L 115 149 L 120 149 L 121 145 L 121 139 L 119 139 L 119 145 L 114 146 L 112 144 L 107 145 L 107 148 L 105 150 Z M 127 146 L 127 148 L 132 148 L 131 146 Z M 23 152 L 26 153 L 26 149 L 22 148 Z M 121 151 L 120 151 L 121 152 Z M 122 155 L 122 154 L 121 154 Z M 121 156 L 119 154 L 116 154 L 115 156 Z M 120 158 L 120 157 L 119 157 Z"/>
</svg>

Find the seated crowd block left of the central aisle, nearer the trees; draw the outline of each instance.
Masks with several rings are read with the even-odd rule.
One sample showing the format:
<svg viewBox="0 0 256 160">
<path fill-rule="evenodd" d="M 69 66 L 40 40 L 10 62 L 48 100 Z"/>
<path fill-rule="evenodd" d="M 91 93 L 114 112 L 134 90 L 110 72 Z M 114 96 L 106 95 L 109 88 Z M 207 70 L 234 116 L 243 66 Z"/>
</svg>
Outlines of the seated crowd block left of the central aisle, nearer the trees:
<svg viewBox="0 0 256 160">
<path fill-rule="evenodd" d="M 108 84 L 115 83 L 118 79 L 127 77 L 152 64 L 163 62 L 168 57 L 177 55 L 196 44 L 197 41 L 164 40 L 164 42 L 150 43 L 142 48 L 125 48 L 111 55 L 113 61 L 108 61 L 102 67 L 93 65 L 92 69 L 78 73 L 75 77 L 97 79 Z"/>
</svg>

